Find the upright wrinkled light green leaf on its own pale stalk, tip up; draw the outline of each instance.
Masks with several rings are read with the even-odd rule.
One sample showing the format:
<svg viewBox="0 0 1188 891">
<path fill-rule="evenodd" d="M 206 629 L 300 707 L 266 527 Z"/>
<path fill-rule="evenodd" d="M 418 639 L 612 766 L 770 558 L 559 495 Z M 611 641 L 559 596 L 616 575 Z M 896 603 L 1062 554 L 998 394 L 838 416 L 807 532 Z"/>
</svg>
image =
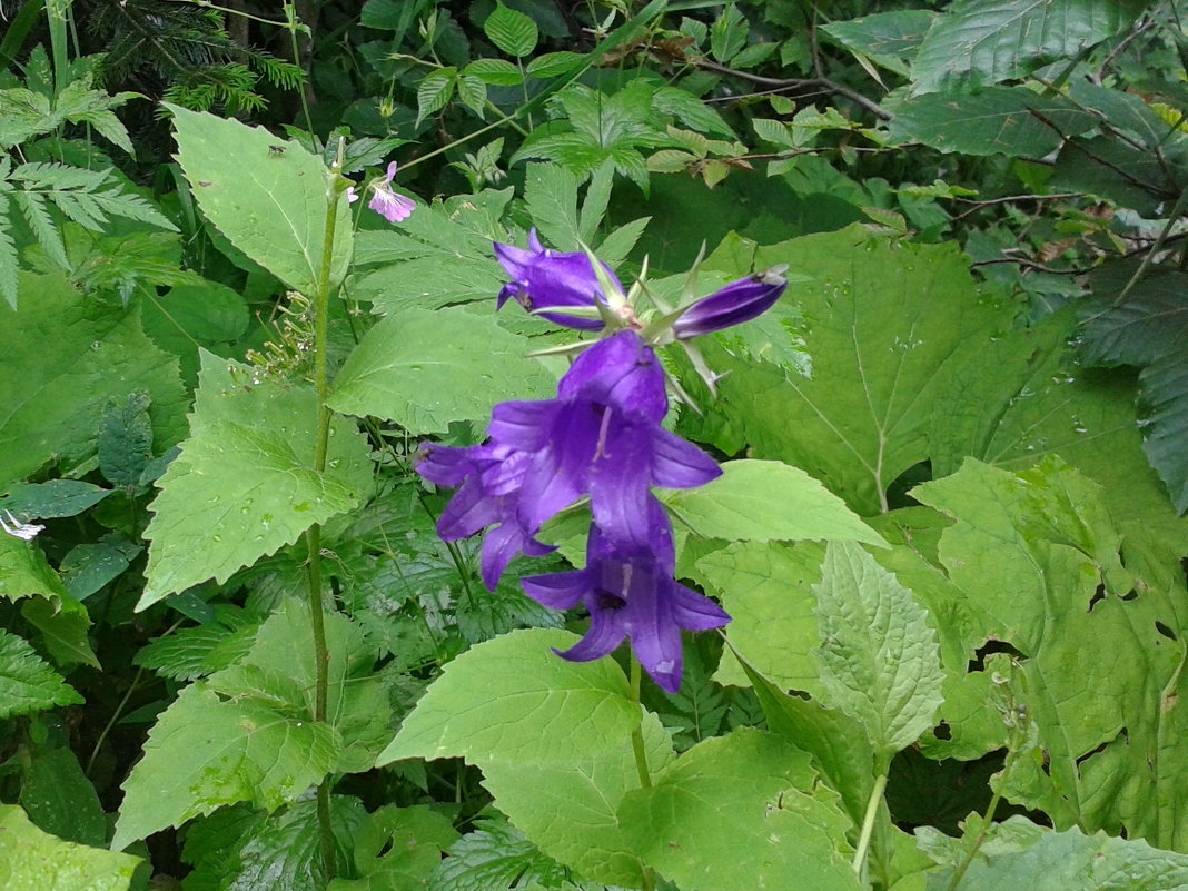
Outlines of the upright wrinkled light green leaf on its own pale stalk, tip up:
<svg viewBox="0 0 1188 891">
<path fill-rule="evenodd" d="M 866 727 L 884 763 L 931 728 L 941 663 L 927 613 L 866 551 L 830 542 L 817 598 L 816 651 L 833 704 Z"/>
</svg>

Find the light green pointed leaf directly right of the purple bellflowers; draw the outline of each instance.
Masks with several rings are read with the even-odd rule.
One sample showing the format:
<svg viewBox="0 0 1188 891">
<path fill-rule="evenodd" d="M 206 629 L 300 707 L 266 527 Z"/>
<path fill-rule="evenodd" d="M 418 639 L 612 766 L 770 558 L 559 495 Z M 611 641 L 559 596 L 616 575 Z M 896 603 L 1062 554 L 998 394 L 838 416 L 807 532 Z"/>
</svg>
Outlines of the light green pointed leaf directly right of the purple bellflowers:
<svg viewBox="0 0 1188 891">
<path fill-rule="evenodd" d="M 727 461 L 719 479 L 665 492 L 662 500 L 703 538 L 884 544 L 840 498 L 798 467 L 779 461 Z"/>
</svg>

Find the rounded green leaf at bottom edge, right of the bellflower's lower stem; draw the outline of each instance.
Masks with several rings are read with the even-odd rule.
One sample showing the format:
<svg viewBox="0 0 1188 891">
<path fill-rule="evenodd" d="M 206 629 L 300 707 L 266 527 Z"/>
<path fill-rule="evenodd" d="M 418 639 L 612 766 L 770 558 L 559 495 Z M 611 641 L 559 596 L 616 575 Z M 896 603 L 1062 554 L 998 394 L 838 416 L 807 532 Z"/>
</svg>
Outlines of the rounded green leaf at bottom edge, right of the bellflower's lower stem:
<svg viewBox="0 0 1188 891">
<path fill-rule="evenodd" d="M 681 887 L 784 887 L 794 876 L 814 891 L 860 887 L 836 796 L 773 735 L 742 728 L 697 744 L 628 792 L 619 816 L 640 858 Z"/>
</svg>

